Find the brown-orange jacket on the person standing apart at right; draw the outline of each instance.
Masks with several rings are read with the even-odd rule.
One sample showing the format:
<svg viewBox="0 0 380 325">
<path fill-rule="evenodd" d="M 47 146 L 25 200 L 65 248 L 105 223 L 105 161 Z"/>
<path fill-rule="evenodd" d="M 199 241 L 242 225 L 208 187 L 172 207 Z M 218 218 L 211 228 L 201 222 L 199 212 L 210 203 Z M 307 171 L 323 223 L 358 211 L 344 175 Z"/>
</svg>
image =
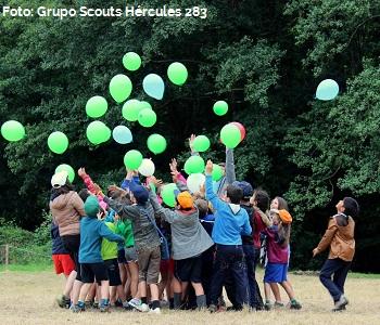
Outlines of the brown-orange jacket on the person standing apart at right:
<svg viewBox="0 0 380 325">
<path fill-rule="evenodd" d="M 330 218 L 329 225 L 324 237 L 317 246 L 318 251 L 324 251 L 330 246 L 329 259 L 342 259 L 351 262 L 355 253 L 355 221 L 351 217 L 335 214 Z"/>
</svg>

